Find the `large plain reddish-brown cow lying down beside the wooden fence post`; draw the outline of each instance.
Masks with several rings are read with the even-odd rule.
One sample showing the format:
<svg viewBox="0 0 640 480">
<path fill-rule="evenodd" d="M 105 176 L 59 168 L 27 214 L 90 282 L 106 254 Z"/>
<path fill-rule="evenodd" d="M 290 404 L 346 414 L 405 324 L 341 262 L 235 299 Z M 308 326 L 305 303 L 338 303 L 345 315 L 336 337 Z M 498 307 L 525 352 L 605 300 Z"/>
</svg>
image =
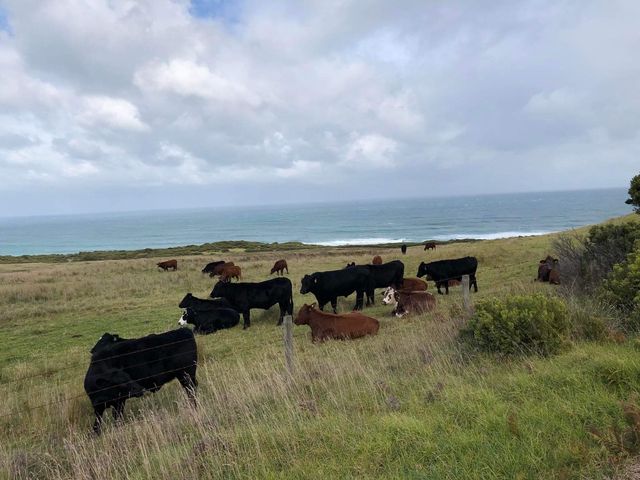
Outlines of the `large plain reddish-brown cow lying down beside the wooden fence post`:
<svg viewBox="0 0 640 480">
<path fill-rule="evenodd" d="M 312 341 L 324 341 L 329 338 L 347 339 L 375 335 L 380 322 L 359 312 L 335 315 L 315 309 L 314 305 L 303 305 L 295 320 L 296 325 L 311 327 Z"/>
</svg>

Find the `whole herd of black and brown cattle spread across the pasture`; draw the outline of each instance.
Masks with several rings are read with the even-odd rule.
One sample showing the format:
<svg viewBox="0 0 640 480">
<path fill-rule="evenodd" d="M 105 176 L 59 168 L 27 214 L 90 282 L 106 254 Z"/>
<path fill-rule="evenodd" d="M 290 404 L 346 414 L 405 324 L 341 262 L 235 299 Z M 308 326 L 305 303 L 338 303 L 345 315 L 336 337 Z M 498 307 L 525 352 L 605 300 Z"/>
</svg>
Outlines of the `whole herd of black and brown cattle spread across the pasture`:
<svg viewBox="0 0 640 480">
<path fill-rule="evenodd" d="M 403 253 L 406 251 L 402 249 Z M 435 248 L 425 244 L 427 248 Z M 177 270 L 176 260 L 157 264 L 163 270 Z M 559 283 L 558 261 L 551 257 L 540 262 L 538 280 Z M 392 314 L 403 317 L 419 314 L 435 308 L 436 299 L 428 293 L 427 283 L 420 277 L 435 282 L 437 291 L 449 293 L 449 287 L 459 285 L 463 276 L 469 276 L 469 289 L 478 291 L 475 257 L 439 260 L 420 263 L 418 278 L 404 277 L 404 264 L 399 260 L 382 263 L 376 255 L 371 264 L 348 264 L 345 268 L 304 275 L 301 294 L 311 293 L 316 305 L 303 305 L 294 319 L 296 325 L 309 325 L 315 341 L 329 338 L 346 339 L 372 335 L 380 324 L 375 318 L 360 313 L 365 306 L 375 303 L 375 289 L 384 288 L 382 303 L 392 305 Z M 113 408 L 114 419 L 120 419 L 128 398 L 139 397 L 145 392 L 156 392 L 165 383 L 178 379 L 195 403 L 197 386 L 197 348 L 194 333 L 208 334 L 235 327 L 243 317 L 243 327 L 251 325 L 251 309 L 269 309 L 278 305 L 278 325 L 285 315 L 293 315 L 293 288 L 291 281 L 281 275 L 289 273 L 287 262 L 278 260 L 271 274 L 277 278 L 262 282 L 232 283 L 241 278 L 240 267 L 233 262 L 217 261 L 205 265 L 202 273 L 219 276 L 209 299 L 200 299 L 187 293 L 179 303 L 183 309 L 179 325 L 193 325 L 193 330 L 180 328 L 162 334 L 151 334 L 141 338 L 125 339 L 105 333 L 91 349 L 91 363 L 85 376 L 84 388 L 95 413 L 93 429 L 100 433 L 102 414 Z M 554 273 L 555 272 L 555 273 Z M 338 313 L 337 298 L 356 293 L 352 312 Z M 323 311 L 330 303 L 333 313 Z"/>
</svg>

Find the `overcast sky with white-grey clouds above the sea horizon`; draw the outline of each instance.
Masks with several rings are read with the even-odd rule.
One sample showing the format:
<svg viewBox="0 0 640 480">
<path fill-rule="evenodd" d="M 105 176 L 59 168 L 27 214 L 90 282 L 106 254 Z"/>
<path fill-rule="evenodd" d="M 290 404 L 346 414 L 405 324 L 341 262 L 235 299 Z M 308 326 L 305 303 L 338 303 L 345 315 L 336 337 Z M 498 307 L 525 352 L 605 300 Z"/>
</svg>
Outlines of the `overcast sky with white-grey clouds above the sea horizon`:
<svg viewBox="0 0 640 480">
<path fill-rule="evenodd" d="M 0 216 L 628 187 L 638 19 L 638 0 L 0 0 Z"/>
</svg>

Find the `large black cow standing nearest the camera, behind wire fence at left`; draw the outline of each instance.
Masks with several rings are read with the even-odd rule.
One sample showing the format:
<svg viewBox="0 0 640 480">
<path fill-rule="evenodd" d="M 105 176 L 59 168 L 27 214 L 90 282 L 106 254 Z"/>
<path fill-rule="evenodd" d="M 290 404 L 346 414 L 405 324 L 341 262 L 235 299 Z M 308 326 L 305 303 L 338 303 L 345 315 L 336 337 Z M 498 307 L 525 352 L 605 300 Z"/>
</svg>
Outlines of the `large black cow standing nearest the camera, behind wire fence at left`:
<svg viewBox="0 0 640 480">
<path fill-rule="evenodd" d="M 114 418 L 120 419 L 128 398 L 157 392 L 174 378 L 195 404 L 196 349 L 188 328 L 132 339 L 102 335 L 91 349 L 91 363 L 84 378 L 84 390 L 96 417 L 93 431 L 100 434 L 107 408 L 113 407 Z"/>
</svg>

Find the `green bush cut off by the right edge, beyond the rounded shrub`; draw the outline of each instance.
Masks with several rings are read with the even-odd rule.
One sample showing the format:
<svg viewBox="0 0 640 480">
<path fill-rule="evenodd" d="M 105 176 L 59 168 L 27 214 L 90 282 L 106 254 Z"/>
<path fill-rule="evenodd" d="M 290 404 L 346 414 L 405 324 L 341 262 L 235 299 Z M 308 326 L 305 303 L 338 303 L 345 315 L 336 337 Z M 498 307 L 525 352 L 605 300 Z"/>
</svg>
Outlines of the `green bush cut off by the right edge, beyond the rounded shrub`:
<svg viewBox="0 0 640 480">
<path fill-rule="evenodd" d="M 613 267 L 602 283 L 600 296 L 623 314 L 624 327 L 640 330 L 640 245 L 625 262 Z"/>
</svg>

